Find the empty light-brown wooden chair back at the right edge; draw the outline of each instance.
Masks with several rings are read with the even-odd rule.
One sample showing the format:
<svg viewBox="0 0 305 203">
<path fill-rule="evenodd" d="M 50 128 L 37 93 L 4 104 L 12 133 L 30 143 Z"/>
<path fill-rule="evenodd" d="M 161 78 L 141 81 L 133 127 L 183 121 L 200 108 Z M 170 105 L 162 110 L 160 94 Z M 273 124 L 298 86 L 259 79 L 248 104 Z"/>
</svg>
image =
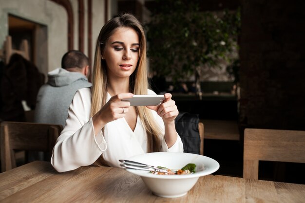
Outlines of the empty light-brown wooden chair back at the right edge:
<svg viewBox="0 0 305 203">
<path fill-rule="evenodd" d="M 305 131 L 245 129 L 243 177 L 258 179 L 258 162 L 305 163 Z"/>
</svg>

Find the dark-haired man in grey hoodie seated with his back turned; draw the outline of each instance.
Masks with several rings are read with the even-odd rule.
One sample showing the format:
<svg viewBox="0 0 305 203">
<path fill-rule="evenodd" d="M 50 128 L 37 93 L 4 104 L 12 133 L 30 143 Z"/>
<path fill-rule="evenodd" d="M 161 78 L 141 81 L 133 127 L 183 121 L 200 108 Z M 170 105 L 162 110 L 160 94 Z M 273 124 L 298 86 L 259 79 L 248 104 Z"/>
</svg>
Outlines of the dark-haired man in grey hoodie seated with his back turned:
<svg viewBox="0 0 305 203">
<path fill-rule="evenodd" d="M 66 125 L 68 109 L 78 89 L 90 87 L 89 59 L 72 50 L 62 56 L 61 67 L 48 73 L 38 92 L 34 122 Z"/>
</svg>

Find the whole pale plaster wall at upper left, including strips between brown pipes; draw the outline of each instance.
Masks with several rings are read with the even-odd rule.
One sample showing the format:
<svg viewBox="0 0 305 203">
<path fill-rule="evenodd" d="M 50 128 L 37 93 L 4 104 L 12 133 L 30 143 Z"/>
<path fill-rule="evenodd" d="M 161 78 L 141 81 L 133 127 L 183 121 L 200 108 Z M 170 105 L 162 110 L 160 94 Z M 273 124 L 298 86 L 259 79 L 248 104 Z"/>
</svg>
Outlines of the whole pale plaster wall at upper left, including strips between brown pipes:
<svg viewBox="0 0 305 203">
<path fill-rule="evenodd" d="M 57 2 L 60 2 L 58 0 Z M 84 53 L 89 55 L 88 47 L 88 1 L 69 0 L 72 6 L 74 21 L 73 49 L 79 49 L 78 44 L 78 12 L 79 2 L 83 3 L 84 12 Z M 95 43 L 100 29 L 105 23 L 105 0 L 91 0 L 92 27 L 91 27 L 91 58 L 95 54 Z M 9 34 L 8 16 L 29 20 L 37 23 L 35 50 L 36 60 L 33 61 L 40 72 L 47 75 L 48 72 L 60 66 L 61 57 L 68 51 L 68 15 L 67 10 L 52 0 L 0 0 L 0 49 Z M 42 27 L 40 29 L 40 27 Z M 22 38 L 22 36 L 20 36 Z M 14 40 L 14 39 L 13 39 Z"/>
</svg>

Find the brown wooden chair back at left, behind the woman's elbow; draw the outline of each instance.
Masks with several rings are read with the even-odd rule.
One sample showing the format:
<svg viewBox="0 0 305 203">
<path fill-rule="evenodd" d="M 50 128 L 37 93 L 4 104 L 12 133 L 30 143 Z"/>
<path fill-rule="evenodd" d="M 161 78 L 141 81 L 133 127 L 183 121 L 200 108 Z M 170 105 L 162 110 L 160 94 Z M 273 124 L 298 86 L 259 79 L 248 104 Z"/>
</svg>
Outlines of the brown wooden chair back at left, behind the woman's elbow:
<svg viewBox="0 0 305 203">
<path fill-rule="evenodd" d="M 51 157 L 62 126 L 25 122 L 1 122 L 0 149 L 2 172 L 16 167 L 15 150 L 43 151 Z"/>
</svg>

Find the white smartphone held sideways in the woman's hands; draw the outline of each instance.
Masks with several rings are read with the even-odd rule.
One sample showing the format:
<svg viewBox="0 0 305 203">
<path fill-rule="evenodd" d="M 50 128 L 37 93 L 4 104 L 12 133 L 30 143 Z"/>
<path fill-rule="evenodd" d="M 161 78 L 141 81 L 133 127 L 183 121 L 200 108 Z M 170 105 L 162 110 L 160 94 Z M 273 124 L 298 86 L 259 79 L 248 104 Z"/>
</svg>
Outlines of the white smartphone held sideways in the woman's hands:
<svg viewBox="0 0 305 203">
<path fill-rule="evenodd" d="M 129 101 L 130 106 L 157 106 L 164 99 L 163 94 L 147 94 L 147 95 L 133 95 L 132 98 L 121 99 L 121 101 Z"/>
</svg>

